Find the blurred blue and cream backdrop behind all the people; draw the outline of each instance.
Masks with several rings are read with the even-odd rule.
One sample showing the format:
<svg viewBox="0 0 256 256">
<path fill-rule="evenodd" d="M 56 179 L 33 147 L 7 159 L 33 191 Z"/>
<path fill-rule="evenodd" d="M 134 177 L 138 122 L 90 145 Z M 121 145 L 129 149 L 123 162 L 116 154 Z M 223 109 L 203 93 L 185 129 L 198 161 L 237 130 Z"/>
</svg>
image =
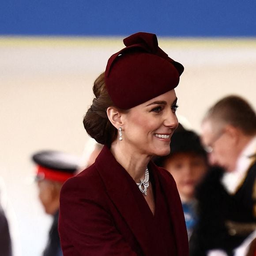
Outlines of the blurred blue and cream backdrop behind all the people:
<svg viewBox="0 0 256 256">
<path fill-rule="evenodd" d="M 227 94 L 256 108 L 255 12 L 254 0 L 0 1 L 0 177 L 15 256 L 41 255 L 51 223 L 31 154 L 89 151 L 92 84 L 122 39 L 157 34 L 184 65 L 177 114 L 200 133 L 207 108 Z"/>
</svg>

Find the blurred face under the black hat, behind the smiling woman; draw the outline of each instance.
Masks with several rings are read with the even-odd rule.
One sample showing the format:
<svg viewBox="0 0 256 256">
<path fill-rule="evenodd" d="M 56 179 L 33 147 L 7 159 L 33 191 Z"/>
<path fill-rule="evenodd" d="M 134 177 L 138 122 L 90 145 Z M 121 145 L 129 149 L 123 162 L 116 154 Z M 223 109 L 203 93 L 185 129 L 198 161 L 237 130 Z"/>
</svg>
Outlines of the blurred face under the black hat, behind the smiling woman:
<svg viewBox="0 0 256 256">
<path fill-rule="evenodd" d="M 207 170 L 206 159 L 193 153 L 175 153 L 167 158 L 163 168 L 173 175 L 181 200 L 194 197 L 195 186 Z"/>
</svg>

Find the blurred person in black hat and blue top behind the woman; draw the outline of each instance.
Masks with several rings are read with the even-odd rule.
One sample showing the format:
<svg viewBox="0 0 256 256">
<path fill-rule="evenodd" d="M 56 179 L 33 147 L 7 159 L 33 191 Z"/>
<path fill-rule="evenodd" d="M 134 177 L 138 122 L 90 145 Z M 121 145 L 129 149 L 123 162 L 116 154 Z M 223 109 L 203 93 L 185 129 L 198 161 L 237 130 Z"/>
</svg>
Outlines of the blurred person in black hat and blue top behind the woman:
<svg viewBox="0 0 256 256">
<path fill-rule="evenodd" d="M 208 169 L 207 153 L 199 136 L 184 128 L 173 133 L 170 145 L 170 154 L 156 158 L 155 164 L 169 171 L 176 181 L 190 238 L 197 222 L 195 188 Z"/>
</svg>

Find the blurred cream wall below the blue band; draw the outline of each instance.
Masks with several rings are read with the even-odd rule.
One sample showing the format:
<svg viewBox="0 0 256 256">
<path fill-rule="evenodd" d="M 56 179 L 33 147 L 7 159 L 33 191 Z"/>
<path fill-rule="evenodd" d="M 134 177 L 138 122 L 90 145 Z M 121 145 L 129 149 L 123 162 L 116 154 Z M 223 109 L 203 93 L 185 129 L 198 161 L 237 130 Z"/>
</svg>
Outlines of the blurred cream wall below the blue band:
<svg viewBox="0 0 256 256">
<path fill-rule="evenodd" d="M 161 38 L 159 45 L 184 64 L 177 113 L 196 131 L 205 110 L 227 94 L 256 108 L 255 39 Z M 40 255 L 51 222 L 38 203 L 30 156 L 41 149 L 82 154 L 92 83 L 122 47 L 121 38 L 0 38 L 0 176 L 23 256 Z"/>
</svg>

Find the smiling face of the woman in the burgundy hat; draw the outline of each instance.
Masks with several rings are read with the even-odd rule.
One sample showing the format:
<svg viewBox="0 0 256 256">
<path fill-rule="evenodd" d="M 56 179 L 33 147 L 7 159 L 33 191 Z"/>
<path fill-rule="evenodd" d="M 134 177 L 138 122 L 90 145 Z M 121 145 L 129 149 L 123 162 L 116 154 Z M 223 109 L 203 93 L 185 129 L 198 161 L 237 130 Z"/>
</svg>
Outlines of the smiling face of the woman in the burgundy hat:
<svg viewBox="0 0 256 256">
<path fill-rule="evenodd" d="M 176 109 L 174 90 L 129 109 L 122 117 L 121 143 L 136 154 L 169 154 L 170 137 L 178 125 Z"/>
</svg>

